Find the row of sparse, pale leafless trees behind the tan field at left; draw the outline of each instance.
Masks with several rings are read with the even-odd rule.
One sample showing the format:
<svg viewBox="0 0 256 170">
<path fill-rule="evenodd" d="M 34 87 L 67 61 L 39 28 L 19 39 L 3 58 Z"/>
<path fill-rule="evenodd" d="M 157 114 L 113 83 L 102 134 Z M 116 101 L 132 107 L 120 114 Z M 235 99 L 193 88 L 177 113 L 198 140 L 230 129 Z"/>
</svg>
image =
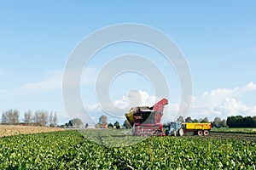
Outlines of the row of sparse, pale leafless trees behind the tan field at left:
<svg viewBox="0 0 256 170">
<path fill-rule="evenodd" d="M 9 109 L 9 111 L 3 111 L 1 124 L 5 125 L 17 125 L 17 124 L 26 124 L 26 125 L 34 125 L 34 126 L 49 126 L 49 127 L 57 127 L 58 126 L 58 118 L 57 112 L 53 111 L 40 111 L 37 110 L 35 112 L 26 111 L 24 113 L 24 117 L 20 122 L 20 111 L 16 109 Z"/>
</svg>

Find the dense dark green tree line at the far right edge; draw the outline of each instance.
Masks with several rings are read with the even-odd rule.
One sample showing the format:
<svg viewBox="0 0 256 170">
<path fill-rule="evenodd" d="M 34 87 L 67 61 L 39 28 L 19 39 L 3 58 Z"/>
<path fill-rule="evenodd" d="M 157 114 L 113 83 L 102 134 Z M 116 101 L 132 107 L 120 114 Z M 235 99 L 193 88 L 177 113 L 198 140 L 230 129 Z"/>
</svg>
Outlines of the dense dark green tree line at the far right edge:
<svg viewBox="0 0 256 170">
<path fill-rule="evenodd" d="M 256 127 L 256 116 L 229 116 L 227 125 L 229 127 Z"/>
</svg>

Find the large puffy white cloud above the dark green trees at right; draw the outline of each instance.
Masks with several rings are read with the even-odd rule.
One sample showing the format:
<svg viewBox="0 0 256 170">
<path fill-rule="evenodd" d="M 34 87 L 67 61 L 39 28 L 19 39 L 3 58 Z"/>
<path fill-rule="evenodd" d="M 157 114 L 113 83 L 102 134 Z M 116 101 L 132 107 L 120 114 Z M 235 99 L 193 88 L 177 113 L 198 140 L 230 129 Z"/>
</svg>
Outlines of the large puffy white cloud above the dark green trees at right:
<svg viewBox="0 0 256 170">
<path fill-rule="evenodd" d="M 248 92 L 256 90 L 256 84 L 248 83 L 241 88 L 218 88 L 211 92 L 205 92 L 201 96 L 193 98 L 189 116 L 203 118 L 207 116 L 210 120 L 215 116 L 226 118 L 227 116 L 241 115 L 254 116 L 255 107 L 247 106 L 239 101 L 239 98 Z"/>
</svg>

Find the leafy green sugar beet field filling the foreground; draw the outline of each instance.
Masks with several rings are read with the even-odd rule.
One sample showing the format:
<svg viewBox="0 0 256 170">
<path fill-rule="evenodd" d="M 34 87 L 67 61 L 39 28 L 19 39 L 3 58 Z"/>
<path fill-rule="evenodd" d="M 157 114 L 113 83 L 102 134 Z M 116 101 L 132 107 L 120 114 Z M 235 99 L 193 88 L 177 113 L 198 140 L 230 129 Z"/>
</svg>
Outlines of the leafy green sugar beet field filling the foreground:
<svg viewBox="0 0 256 170">
<path fill-rule="evenodd" d="M 91 129 L 0 138 L 0 169 L 255 168 L 254 133 L 143 138 Z"/>
</svg>

